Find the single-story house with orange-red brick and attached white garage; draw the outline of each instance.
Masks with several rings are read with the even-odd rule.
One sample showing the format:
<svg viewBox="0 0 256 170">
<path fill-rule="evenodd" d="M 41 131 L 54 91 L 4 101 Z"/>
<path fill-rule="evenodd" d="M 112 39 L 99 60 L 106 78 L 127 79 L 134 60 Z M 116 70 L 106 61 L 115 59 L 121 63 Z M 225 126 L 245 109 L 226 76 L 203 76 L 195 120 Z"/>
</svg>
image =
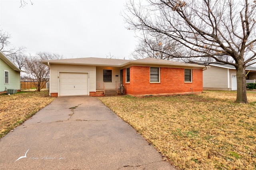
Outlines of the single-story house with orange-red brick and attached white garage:
<svg viewBox="0 0 256 170">
<path fill-rule="evenodd" d="M 76 58 L 46 60 L 50 95 L 95 95 L 118 91 L 124 84 L 132 96 L 198 93 L 203 90 L 205 66 L 155 58 L 137 60 Z"/>
</svg>

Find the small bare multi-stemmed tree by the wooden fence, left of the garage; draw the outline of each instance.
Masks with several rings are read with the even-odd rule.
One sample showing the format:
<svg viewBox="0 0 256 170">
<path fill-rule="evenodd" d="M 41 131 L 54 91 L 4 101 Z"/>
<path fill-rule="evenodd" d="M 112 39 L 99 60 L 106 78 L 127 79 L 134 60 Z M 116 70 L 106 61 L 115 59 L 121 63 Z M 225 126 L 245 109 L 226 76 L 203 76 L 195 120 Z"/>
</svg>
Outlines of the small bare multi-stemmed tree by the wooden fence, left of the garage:
<svg viewBox="0 0 256 170">
<path fill-rule="evenodd" d="M 36 56 L 27 57 L 26 73 L 31 80 L 34 80 L 32 83 L 36 86 L 36 91 L 40 91 L 50 79 L 49 68 L 41 61 L 62 58 L 62 55 L 46 52 L 38 52 Z"/>
</svg>

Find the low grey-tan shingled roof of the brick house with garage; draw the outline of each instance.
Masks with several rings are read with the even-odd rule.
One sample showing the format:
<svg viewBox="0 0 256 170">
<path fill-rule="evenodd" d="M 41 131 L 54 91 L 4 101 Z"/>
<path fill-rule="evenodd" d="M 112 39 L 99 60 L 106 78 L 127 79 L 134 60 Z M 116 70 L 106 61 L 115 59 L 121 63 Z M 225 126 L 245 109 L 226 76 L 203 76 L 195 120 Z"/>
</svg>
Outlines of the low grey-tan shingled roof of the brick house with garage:
<svg viewBox="0 0 256 170">
<path fill-rule="evenodd" d="M 107 67 L 125 67 L 126 65 L 160 65 L 168 67 L 196 67 L 206 68 L 203 65 L 182 63 L 176 61 L 169 61 L 156 58 L 144 58 L 137 60 L 126 59 L 107 59 L 107 58 L 75 58 L 75 59 L 57 59 L 57 60 L 44 60 L 44 64 L 71 64 L 71 65 L 94 65 L 94 66 L 107 66 Z"/>
</svg>

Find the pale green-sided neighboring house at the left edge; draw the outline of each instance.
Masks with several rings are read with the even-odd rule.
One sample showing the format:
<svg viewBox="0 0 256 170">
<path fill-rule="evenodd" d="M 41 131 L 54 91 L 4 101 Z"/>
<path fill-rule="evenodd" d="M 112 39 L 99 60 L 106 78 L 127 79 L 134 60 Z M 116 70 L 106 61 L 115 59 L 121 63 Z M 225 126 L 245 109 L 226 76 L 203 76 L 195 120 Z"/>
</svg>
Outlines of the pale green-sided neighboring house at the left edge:
<svg viewBox="0 0 256 170">
<path fill-rule="evenodd" d="M 20 91 L 20 69 L 0 51 L 0 93 L 7 89 Z"/>
</svg>

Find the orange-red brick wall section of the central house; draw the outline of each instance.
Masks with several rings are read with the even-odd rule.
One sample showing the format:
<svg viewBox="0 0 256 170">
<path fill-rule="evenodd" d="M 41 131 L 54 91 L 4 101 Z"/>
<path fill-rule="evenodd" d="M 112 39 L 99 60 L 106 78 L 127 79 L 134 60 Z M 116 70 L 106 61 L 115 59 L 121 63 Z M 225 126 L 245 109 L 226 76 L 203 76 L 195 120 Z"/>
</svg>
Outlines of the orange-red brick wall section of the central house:
<svg viewBox="0 0 256 170">
<path fill-rule="evenodd" d="M 126 80 L 126 69 L 123 79 Z M 192 69 L 192 83 L 184 82 L 184 69 L 160 68 L 160 83 L 150 83 L 150 67 L 130 67 L 130 83 L 125 83 L 126 94 L 133 96 L 172 95 L 203 91 L 202 69 Z M 191 89 L 192 88 L 192 89 Z"/>
</svg>

